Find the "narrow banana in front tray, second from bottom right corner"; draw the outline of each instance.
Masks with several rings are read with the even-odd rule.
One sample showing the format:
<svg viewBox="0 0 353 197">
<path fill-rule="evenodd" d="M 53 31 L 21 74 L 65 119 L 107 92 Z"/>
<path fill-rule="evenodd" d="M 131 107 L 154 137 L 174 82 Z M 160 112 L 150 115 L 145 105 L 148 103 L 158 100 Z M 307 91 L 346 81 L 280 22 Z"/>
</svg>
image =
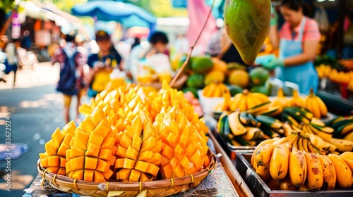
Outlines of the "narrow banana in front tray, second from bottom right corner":
<svg viewBox="0 0 353 197">
<path fill-rule="evenodd" d="M 333 163 L 326 155 L 318 155 L 318 159 L 323 167 L 323 188 L 335 189 L 336 186 L 336 170 Z"/>
</svg>

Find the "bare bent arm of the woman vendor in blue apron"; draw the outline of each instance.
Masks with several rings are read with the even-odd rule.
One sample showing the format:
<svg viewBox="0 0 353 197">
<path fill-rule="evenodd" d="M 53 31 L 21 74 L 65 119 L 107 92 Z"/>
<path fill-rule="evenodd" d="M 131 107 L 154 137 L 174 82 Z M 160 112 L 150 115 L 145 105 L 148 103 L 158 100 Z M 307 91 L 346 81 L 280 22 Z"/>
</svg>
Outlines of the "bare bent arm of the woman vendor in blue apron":
<svg viewBox="0 0 353 197">
<path fill-rule="evenodd" d="M 316 49 L 318 47 L 318 41 L 308 40 L 304 42 L 303 53 L 285 58 L 285 66 L 300 65 L 309 61 L 312 61 L 316 57 Z"/>
</svg>

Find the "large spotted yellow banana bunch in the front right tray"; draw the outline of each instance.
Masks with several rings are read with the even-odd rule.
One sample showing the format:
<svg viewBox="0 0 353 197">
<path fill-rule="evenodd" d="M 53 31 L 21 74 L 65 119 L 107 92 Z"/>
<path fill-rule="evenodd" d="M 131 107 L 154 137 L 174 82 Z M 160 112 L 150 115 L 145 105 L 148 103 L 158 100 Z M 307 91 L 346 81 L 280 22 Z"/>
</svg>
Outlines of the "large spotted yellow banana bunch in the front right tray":
<svg viewBox="0 0 353 197">
<path fill-rule="evenodd" d="M 283 127 L 289 136 L 261 142 L 251 157 L 252 167 L 270 189 L 318 191 L 352 186 L 352 152 L 325 155 L 308 135 L 294 132 L 289 124 Z"/>
</svg>

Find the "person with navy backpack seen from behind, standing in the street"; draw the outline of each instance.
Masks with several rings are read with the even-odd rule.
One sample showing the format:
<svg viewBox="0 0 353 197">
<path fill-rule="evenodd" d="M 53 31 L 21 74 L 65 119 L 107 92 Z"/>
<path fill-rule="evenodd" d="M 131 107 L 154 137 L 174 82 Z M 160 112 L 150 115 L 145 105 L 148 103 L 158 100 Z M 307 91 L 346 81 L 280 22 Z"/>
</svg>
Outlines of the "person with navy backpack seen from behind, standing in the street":
<svg viewBox="0 0 353 197">
<path fill-rule="evenodd" d="M 56 90 L 60 91 L 64 96 L 64 118 L 65 122 L 70 121 L 70 106 L 72 96 L 77 96 L 76 105 L 76 123 L 80 122 L 78 107 L 80 106 L 80 98 L 83 95 L 83 87 L 85 86 L 83 65 L 85 65 L 83 54 L 77 50 L 74 44 L 75 36 L 66 34 L 66 44 L 61 49 L 54 52 L 52 64 L 59 63 L 60 74 L 59 82 Z"/>
</svg>

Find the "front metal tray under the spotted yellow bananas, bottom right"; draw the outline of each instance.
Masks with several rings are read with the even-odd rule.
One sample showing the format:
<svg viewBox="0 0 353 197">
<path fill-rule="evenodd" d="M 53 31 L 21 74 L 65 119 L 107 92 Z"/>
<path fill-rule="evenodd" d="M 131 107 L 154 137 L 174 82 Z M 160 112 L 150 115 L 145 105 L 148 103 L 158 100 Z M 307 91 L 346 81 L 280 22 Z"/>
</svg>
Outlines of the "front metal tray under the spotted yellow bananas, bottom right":
<svg viewBox="0 0 353 197">
<path fill-rule="evenodd" d="M 316 197 L 316 196 L 340 196 L 348 197 L 353 196 L 353 189 L 335 189 L 323 191 L 284 191 L 284 190 L 271 190 L 265 182 L 258 176 L 250 165 L 251 153 L 238 152 L 237 159 L 233 160 L 235 168 L 238 170 L 244 182 L 253 193 L 254 196 L 262 197 Z"/>
</svg>

